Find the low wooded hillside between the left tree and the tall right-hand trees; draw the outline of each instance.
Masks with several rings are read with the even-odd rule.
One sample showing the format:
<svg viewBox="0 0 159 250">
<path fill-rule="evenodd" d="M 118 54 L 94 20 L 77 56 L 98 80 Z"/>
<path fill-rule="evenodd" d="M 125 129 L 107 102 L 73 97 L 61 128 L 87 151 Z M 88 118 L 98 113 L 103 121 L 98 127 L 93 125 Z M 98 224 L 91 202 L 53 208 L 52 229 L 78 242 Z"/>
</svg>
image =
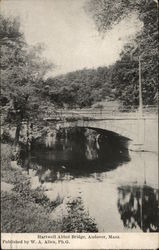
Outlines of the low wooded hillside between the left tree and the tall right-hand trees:
<svg viewBox="0 0 159 250">
<path fill-rule="evenodd" d="M 86 107 L 113 98 L 107 67 L 83 69 L 46 81 L 51 101 L 58 106 Z"/>
</svg>

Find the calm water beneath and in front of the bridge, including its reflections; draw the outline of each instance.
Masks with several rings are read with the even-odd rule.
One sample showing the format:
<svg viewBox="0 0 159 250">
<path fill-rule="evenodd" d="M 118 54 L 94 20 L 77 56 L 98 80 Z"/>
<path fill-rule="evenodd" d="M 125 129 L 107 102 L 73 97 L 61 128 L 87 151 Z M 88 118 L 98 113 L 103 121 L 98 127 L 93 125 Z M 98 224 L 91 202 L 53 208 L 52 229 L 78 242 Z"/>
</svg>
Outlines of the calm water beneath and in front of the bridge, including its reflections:
<svg viewBox="0 0 159 250">
<path fill-rule="evenodd" d="M 52 201 L 82 199 L 99 232 L 156 232 L 157 154 L 128 152 L 123 138 L 88 131 L 35 141 L 24 157 L 32 188 L 41 186 Z"/>
</svg>

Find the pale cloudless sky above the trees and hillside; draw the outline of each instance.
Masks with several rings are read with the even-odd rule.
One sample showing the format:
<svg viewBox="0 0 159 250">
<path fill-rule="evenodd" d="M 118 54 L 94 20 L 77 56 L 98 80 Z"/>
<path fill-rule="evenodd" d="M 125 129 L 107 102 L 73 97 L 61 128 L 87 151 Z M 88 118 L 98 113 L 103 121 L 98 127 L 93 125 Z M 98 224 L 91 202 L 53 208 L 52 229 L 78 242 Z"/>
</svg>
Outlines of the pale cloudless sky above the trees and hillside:
<svg viewBox="0 0 159 250">
<path fill-rule="evenodd" d="M 43 55 L 56 65 L 51 75 L 109 66 L 120 57 L 141 23 L 127 17 L 102 38 L 84 11 L 87 0 L 2 0 L 1 12 L 19 16 L 30 45 L 44 44 Z"/>
</svg>

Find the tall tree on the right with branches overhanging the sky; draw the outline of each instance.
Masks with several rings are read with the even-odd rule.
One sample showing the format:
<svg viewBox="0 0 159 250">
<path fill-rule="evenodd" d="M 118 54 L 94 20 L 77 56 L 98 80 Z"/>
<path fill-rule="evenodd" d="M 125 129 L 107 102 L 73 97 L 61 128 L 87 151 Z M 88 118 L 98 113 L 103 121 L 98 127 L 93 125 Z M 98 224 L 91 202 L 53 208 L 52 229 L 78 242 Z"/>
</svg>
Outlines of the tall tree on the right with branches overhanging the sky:
<svg viewBox="0 0 159 250">
<path fill-rule="evenodd" d="M 138 58 L 142 64 L 142 91 L 144 104 L 157 103 L 157 68 L 158 68 L 158 22 L 157 2 L 154 0 L 91 0 L 86 6 L 97 29 L 103 35 L 124 18 L 135 13 L 143 23 L 135 39 L 130 40 L 121 53 L 121 63 L 117 62 L 112 71 L 112 82 L 125 105 L 135 105 L 137 99 Z M 125 67 L 124 67 L 125 64 Z M 129 69 L 128 66 L 129 65 Z M 134 67 L 134 68 L 133 68 Z M 115 75 L 118 74 L 116 77 Z M 125 83 L 125 84 L 124 84 Z M 135 93 L 132 96 L 132 90 Z"/>
</svg>

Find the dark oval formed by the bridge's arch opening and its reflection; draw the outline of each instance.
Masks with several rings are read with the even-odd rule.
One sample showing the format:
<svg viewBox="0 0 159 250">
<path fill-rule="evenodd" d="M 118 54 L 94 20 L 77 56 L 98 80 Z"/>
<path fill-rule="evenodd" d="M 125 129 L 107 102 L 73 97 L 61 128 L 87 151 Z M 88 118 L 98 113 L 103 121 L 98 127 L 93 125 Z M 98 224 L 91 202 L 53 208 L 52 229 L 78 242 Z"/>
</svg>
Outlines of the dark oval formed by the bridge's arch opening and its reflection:
<svg viewBox="0 0 159 250">
<path fill-rule="evenodd" d="M 127 142 L 127 138 L 100 129 L 61 129 L 32 143 L 29 163 L 32 167 L 36 164 L 42 167 L 39 175 L 50 169 L 50 181 L 63 179 L 66 174 L 89 176 L 128 162 Z M 24 165 L 28 165 L 28 156 L 24 151 L 21 155 Z"/>
</svg>

